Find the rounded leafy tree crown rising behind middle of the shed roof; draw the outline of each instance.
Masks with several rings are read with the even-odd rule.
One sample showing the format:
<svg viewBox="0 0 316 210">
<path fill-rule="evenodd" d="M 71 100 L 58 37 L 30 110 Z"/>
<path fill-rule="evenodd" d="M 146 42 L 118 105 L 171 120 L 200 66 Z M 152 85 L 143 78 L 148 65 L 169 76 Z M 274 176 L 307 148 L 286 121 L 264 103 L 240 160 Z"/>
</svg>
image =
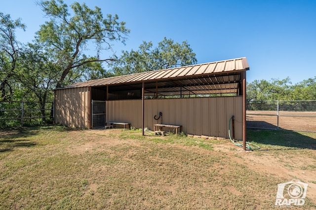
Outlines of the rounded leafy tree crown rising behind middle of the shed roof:
<svg viewBox="0 0 316 210">
<path fill-rule="evenodd" d="M 143 41 L 137 51 L 123 51 L 112 71 L 115 75 L 125 75 L 188 66 L 197 63 L 195 56 L 187 41 L 174 43 L 172 39 L 164 37 L 154 49 L 152 42 Z"/>
</svg>

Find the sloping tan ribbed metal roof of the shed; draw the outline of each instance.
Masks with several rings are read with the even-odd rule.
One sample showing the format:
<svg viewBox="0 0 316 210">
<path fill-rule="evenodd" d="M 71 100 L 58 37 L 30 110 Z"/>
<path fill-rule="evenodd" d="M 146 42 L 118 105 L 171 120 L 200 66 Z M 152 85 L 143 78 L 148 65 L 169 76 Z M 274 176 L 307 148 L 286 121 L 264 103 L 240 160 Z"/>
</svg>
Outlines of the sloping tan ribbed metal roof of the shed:
<svg viewBox="0 0 316 210">
<path fill-rule="evenodd" d="M 173 84 L 159 84 L 159 87 L 164 86 L 165 88 L 172 88 L 168 86 L 174 86 L 175 81 L 177 86 L 195 86 L 200 88 L 197 94 L 203 93 L 224 93 L 224 92 L 236 92 L 238 88 L 236 85 L 239 83 L 240 76 L 234 73 L 249 70 L 247 59 L 237 58 L 225 61 L 217 61 L 205 64 L 197 64 L 192 66 L 178 67 L 173 69 L 155 70 L 143 73 L 135 73 L 129 75 L 115 76 L 110 78 L 96 79 L 91 81 L 79 82 L 69 85 L 66 88 L 78 88 L 78 87 L 98 87 L 98 86 L 111 86 L 111 85 L 127 85 L 133 83 L 147 82 L 151 83 L 154 81 L 162 82 L 173 81 Z M 217 75 L 219 75 L 217 77 Z M 226 76 L 223 76 L 226 75 Z M 179 81 L 178 81 L 179 80 Z M 235 83 L 235 85 L 222 85 L 226 83 Z M 210 84 L 213 85 L 212 91 Z M 215 87 L 219 84 L 218 87 Z M 215 85 L 215 86 L 214 86 Z M 230 86 L 230 87 L 229 87 Z M 218 91 L 221 89 L 222 91 Z M 232 91 L 234 89 L 234 91 Z M 231 91 L 227 91 L 231 90 Z M 168 95 L 172 95 L 172 92 L 178 90 L 170 90 Z"/>
</svg>

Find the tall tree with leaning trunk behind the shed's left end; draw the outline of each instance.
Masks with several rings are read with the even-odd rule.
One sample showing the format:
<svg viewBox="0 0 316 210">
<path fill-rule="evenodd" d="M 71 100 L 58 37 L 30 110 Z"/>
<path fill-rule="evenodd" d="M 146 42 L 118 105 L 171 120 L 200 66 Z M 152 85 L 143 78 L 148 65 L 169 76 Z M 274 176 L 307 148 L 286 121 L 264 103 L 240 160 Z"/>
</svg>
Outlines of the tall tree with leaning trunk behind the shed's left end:
<svg viewBox="0 0 316 210">
<path fill-rule="evenodd" d="M 49 52 L 63 70 L 58 75 L 56 88 L 64 85 L 65 78 L 73 73 L 80 73 L 80 67 L 95 63 L 115 61 L 115 56 L 102 57 L 102 52 L 113 51 L 111 42 L 124 43 L 129 30 L 125 22 L 118 22 L 118 15 L 108 14 L 103 18 L 99 7 L 90 9 L 85 3 L 71 4 L 72 12 L 63 0 L 40 0 L 42 11 L 50 20 L 40 26 L 36 40 L 46 46 Z M 93 47 L 95 55 L 86 55 L 85 52 Z M 89 52 L 91 53 L 91 51 Z"/>
</svg>

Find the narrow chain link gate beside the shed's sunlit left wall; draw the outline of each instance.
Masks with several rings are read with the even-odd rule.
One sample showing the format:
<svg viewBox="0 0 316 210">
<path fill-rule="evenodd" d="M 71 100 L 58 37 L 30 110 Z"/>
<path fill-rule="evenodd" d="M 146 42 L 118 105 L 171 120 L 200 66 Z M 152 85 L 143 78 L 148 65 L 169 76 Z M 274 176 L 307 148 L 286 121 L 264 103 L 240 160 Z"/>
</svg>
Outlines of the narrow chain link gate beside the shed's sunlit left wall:
<svg viewBox="0 0 316 210">
<path fill-rule="evenodd" d="M 105 126 L 105 101 L 92 100 L 92 128 Z"/>
</svg>

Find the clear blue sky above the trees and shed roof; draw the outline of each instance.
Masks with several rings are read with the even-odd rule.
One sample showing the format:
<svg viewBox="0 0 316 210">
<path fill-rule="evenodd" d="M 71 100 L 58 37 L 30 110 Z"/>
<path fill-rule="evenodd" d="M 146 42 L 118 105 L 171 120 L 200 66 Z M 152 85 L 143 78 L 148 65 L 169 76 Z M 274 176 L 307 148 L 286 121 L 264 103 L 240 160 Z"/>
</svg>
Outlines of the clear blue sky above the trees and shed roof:
<svg viewBox="0 0 316 210">
<path fill-rule="evenodd" d="M 118 55 L 167 37 L 187 40 L 197 63 L 247 57 L 248 82 L 288 76 L 295 84 L 316 76 L 316 0 L 77 1 L 126 22 L 131 33 L 125 46 L 114 42 Z M 48 20 L 34 0 L 3 1 L 0 11 L 27 25 L 16 34 L 24 43 Z"/>
</svg>

